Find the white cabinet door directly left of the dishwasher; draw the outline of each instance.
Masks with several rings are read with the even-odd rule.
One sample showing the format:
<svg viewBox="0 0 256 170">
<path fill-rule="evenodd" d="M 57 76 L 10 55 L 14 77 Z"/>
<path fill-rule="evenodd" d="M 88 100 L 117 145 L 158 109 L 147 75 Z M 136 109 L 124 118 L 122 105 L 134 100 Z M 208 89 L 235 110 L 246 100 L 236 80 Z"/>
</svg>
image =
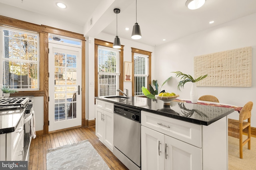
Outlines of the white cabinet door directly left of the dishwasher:
<svg viewBox="0 0 256 170">
<path fill-rule="evenodd" d="M 114 120 L 113 113 L 104 111 L 104 143 L 113 151 Z"/>
</svg>

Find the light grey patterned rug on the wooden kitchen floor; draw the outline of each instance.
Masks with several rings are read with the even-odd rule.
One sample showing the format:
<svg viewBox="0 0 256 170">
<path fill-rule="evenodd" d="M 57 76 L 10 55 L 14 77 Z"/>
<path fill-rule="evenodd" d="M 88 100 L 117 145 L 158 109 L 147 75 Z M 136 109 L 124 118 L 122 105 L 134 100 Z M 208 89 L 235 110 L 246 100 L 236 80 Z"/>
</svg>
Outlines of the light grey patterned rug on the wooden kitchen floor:
<svg viewBox="0 0 256 170">
<path fill-rule="evenodd" d="M 89 140 L 48 149 L 47 170 L 109 170 Z"/>
</svg>

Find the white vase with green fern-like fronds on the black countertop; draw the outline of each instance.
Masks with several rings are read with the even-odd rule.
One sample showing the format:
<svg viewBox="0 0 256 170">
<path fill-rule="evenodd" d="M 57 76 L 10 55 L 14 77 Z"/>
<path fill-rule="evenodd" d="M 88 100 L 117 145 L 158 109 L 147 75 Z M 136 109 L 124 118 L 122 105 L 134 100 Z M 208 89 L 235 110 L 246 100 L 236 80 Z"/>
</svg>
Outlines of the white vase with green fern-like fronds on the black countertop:
<svg viewBox="0 0 256 170">
<path fill-rule="evenodd" d="M 177 78 L 181 77 L 180 78 L 181 81 L 178 82 L 178 87 L 177 87 L 179 91 L 181 91 L 180 87 L 182 87 L 184 89 L 185 83 L 192 82 L 192 87 L 191 87 L 191 90 L 190 90 L 190 100 L 191 100 L 192 103 L 197 103 L 198 92 L 197 92 L 197 88 L 196 88 L 196 82 L 206 78 L 208 76 L 208 74 L 201 75 L 200 77 L 195 79 L 191 75 L 184 74 L 181 71 L 174 71 L 172 73 L 175 73 Z"/>
</svg>

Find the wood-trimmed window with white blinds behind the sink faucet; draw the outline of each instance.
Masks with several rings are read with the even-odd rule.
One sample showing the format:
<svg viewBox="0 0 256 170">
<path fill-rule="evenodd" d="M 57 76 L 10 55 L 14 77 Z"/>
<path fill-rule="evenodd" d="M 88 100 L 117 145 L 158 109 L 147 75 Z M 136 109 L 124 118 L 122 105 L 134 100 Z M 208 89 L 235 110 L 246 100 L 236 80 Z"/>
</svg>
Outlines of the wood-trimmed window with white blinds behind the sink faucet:
<svg viewBox="0 0 256 170">
<path fill-rule="evenodd" d="M 94 39 L 94 96 L 118 95 L 123 90 L 124 45 L 114 49 L 113 43 Z"/>
</svg>

